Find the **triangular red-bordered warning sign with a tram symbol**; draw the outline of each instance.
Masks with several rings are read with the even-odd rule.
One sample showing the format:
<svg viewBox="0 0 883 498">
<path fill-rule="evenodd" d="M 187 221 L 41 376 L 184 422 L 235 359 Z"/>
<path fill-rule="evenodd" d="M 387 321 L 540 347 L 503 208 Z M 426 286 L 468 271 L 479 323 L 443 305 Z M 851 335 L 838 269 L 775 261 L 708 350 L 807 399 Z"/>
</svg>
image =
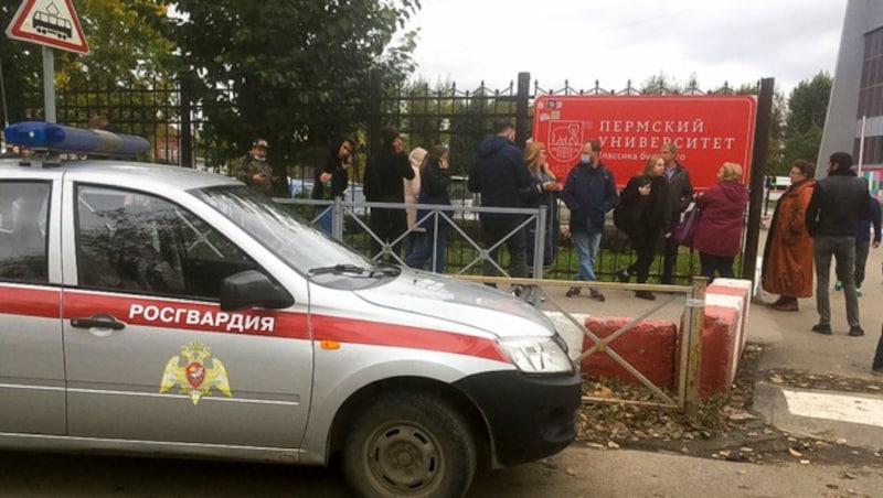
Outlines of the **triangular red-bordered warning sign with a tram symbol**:
<svg viewBox="0 0 883 498">
<path fill-rule="evenodd" d="M 78 54 L 89 52 L 71 0 L 25 0 L 7 28 L 7 36 Z"/>
</svg>

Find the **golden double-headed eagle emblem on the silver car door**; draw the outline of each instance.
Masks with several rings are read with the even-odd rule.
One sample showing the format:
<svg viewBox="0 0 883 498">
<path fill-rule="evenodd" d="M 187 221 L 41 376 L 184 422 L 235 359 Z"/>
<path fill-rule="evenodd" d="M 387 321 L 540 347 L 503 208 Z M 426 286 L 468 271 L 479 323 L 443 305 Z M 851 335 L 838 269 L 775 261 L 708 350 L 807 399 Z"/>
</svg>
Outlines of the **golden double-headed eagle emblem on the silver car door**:
<svg viewBox="0 0 883 498">
<path fill-rule="evenodd" d="M 193 404 L 199 404 L 203 396 L 210 396 L 212 388 L 227 397 L 233 396 L 224 364 L 212 357 L 209 346 L 198 340 L 181 346 L 181 354 L 169 358 L 162 370 L 160 394 L 175 386 L 181 394 L 190 397 Z"/>
</svg>

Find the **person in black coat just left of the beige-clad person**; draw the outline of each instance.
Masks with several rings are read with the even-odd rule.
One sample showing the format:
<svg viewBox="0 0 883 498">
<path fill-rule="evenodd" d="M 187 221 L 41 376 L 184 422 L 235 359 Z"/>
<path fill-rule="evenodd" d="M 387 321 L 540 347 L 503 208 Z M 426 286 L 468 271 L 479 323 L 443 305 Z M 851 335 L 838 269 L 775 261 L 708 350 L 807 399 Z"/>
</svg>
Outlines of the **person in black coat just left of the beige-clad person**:
<svg viewBox="0 0 883 498">
<path fill-rule="evenodd" d="M 368 163 L 364 173 L 365 199 L 370 203 L 405 203 L 404 180 L 414 180 L 414 170 L 402 151 L 402 138 L 393 127 L 383 130 L 383 143 L 376 156 Z M 405 209 L 371 208 L 371 255 L 383 259 L 382 252 L 398 253 L 401 241 L 390 243 L 407 229 Z"/>
</svg>

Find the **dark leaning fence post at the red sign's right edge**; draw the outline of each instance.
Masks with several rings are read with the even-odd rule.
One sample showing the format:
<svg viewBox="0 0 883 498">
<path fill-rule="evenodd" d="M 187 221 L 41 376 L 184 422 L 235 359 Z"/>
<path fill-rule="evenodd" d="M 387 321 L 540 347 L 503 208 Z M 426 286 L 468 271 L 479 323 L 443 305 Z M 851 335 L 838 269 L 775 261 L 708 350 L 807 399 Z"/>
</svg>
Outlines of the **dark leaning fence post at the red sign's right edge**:
<svg viewBox="0 0 883 498">
<path fill-rule="evenodd" d="M 760 80 L 757 96 L 757 126 L 754 129 L 754 153 L 752 154 L 751 204 L 748 204 L 748 231 L 745 235 L 745 252 L 742 259 L 742 278 L 754 285 L 754 271 L 757 268 L 757 243 L 760 240 L 760 204 L 764 202 L 766 182 L 766 160 L 769 152 L 769 128 L 773 121 L 773 90 L 775 79 Z"/>
</svg>

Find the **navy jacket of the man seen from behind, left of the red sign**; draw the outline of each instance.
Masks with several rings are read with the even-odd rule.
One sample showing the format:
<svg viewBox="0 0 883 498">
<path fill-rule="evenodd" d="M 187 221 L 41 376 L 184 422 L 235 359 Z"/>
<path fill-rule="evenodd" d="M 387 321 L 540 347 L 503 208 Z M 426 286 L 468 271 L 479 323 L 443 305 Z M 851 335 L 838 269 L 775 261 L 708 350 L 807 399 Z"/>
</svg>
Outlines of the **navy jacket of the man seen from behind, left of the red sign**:
<svg viewBox="0 0 883 498">
<path fill-rule="evenodd" d="M 493 136 L 479 145 L 469 166 L 469 192 L 481 194 L 481 205 L 487 207 L 523 207 L 525 190 L 542 191 L 540 182 L 531 175 L 524 154 L 506 137 Z M 514 218 L 522 215 L 480 213 L 479 218 Z"/>
</svg>

